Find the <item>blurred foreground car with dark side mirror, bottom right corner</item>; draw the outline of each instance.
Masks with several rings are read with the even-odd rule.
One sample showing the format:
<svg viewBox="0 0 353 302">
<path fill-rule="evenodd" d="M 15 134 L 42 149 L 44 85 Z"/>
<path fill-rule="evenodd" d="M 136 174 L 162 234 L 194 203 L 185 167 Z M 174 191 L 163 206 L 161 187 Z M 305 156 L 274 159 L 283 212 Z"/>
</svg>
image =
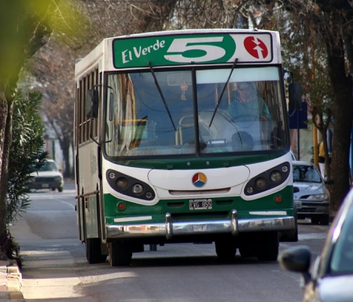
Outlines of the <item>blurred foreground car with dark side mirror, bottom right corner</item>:
<svg viewBox="0 0 353 302">
<path fill-rule="evenodd" d="M 281 267 L 303 274 L 303 302 L 353 301 L 353 190 L 333 220 L 323 250 L 311 266 L 307 246 L 289 248 L 279 254 Z"/>
</svg>

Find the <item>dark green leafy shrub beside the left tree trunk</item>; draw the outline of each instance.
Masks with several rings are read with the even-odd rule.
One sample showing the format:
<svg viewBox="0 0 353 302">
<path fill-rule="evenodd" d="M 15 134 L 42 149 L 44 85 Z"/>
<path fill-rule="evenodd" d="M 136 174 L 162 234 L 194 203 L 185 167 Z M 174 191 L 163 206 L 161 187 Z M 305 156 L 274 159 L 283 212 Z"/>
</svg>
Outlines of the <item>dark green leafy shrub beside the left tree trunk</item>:
<svg viewBox="0 0 353 302">
<path fill-rule="evenodd" d="M 26 183 L 30 173 L 37 171 L 47 157 L 43 150 L 44 125 L 39 115 L 43 96 L 19 91 L 14 101 L 12 144 L 9 159 L 8 216 L 12 222 L 28 208 L 30 200 Z"/>
</svg>

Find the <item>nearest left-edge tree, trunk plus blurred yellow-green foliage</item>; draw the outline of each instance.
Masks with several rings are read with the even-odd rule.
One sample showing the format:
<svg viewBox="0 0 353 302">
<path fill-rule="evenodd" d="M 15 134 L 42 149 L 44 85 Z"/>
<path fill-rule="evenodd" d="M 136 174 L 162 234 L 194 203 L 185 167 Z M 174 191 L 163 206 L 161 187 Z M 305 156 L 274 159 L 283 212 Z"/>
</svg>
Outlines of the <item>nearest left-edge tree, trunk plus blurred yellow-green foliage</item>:
<svg viewBox="0 0 353 302">
<path fill-rule="evenodd" d="M 44 45 L 52 32 L 68 40 L 75 33 L 77 14 L 69 0 L 0 2 L 0 242 L 12 240 L 7 232 L 9 156 L 13 106 L 21 69 Z"/>
</svg>

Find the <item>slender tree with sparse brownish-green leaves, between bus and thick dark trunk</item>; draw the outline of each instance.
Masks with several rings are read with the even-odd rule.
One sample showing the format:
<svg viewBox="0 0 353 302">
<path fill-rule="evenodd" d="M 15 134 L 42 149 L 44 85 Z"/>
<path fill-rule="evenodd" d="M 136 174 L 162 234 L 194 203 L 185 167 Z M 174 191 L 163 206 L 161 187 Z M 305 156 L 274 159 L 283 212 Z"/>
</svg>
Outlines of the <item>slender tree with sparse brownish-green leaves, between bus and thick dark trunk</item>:
<svg viewBox="0 0 353 302">
<path fill-rule="evenodd" d="M 308 104 L 312 116 L 308 124 L 316 126 L 327 148 L 333 90 L 327 69 L 326 47 L 321 37 L 315 34 L 314 20 L 310 16 L 301 16 L 298 22 L 291 21 L 290 17 L 290 13 L 278 11 L 277 7 L 274 18 L 282 40 L 283 65 L 293 72 L 296 82 L 302 84 L 302 101 Z M 317 152 L 315 142 L 314 152 Z M 326 156 L 326 163 L 329 163 L 327 149 Z M 327 178 L 331 178 L 329 165 L 326 174 Z"/>
</svg>

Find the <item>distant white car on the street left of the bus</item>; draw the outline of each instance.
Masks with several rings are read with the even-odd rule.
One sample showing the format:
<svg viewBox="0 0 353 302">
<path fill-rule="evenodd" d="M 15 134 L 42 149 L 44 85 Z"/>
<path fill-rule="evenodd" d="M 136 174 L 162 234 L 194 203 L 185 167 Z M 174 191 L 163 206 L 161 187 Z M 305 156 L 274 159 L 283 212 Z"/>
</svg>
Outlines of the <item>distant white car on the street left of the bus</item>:
<svg viewBox="0 0 353 302">
<path fill-rule="evenodd" d="M 55 161 L 46 160 L 38 172 L 31 173 L 32 179 L 27 184 L 29 189 L 51 189 L 63 192 L 64 177 Z"/>
</svg>

